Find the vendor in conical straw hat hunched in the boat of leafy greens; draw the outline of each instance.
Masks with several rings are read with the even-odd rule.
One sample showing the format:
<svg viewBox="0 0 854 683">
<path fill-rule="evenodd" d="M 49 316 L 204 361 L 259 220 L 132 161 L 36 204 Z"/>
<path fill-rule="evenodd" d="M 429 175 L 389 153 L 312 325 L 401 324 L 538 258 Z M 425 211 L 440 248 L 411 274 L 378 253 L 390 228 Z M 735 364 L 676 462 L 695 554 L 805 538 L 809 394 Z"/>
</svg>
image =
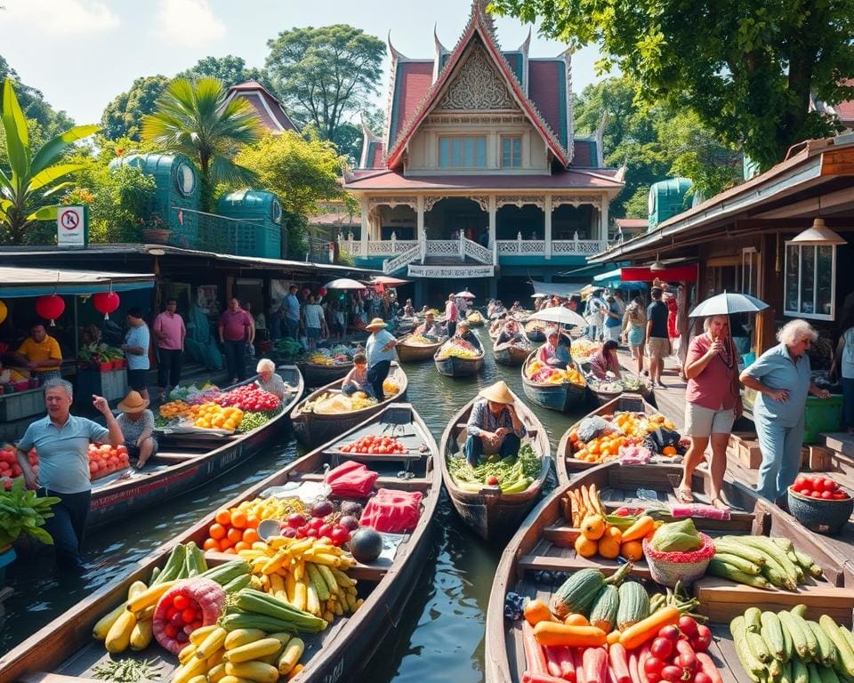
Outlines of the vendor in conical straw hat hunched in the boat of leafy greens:
<svg viewBox="0 0 854 683">
<path fill-rule="evenodd" d="M 495 382 L 480 392 L 469 414 L 466 426 L 468 438 L 463 452 L 465 459 L 476 467 L 484 455 L 499 454 L 502 458 L 519 454 L 525 425 L 516 413 L 516 399 L 504 382 Z"/>
</svg>

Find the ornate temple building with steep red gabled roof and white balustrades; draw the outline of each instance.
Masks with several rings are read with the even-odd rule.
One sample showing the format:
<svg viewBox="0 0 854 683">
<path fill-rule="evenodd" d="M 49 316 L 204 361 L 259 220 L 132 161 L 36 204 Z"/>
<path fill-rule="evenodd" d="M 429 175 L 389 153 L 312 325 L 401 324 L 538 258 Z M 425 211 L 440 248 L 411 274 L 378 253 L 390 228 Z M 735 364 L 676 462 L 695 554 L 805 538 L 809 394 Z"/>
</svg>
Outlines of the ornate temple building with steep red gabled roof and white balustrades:
<svg viewBox="0 0 854 683">
<path fill-rule="evenodd" d="M 569 53 L 531 57 L 530 35 L 502 50 L 486 4 L 472 4 L 453 49 L 434 36 L 431 58 L 390 40 L 383 136 L 366 127 L 345 178 L 361 224 L 342 250 L 415 279 L 418 301 L 466 285 L 518 296 L 530 278 L 583 267 L 608 245 L 608 204 L 624 187 L 624 169 L 603 167 L 604 120 L 574 134 Z"/>
</svg>

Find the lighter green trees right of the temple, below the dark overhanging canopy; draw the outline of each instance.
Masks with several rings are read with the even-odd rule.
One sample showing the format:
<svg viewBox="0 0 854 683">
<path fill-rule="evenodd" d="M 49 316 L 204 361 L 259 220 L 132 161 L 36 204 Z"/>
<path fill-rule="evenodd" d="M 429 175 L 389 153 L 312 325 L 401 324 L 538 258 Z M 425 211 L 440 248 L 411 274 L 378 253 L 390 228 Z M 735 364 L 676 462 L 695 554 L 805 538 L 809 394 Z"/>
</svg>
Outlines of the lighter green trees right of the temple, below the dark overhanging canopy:
<svg viewBox="0 0 854 683">
<path fill-rule="evenodd" d="M 606 78 L 588 85 L 576 99 L 576 131 L 592 133 L 608 114 L 603 135 L 605 163 L 626 165 L 625 189 L 611 204 L 617 217 L 647 217 L 649 186 L 681 175 L 703 197 L 735 184 L 741 157 L 716 140 L 687 109 L 662 102 L 640 107 L 636 85 L 628 77 Z"/>
</svg>

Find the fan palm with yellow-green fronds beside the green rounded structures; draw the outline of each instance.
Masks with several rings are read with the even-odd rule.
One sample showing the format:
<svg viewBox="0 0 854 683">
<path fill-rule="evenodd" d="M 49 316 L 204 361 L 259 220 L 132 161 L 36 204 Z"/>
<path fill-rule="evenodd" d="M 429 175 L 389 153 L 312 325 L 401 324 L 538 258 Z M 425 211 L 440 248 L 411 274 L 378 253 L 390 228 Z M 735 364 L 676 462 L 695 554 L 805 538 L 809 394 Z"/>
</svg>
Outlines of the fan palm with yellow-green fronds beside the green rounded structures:
<svg viewBox="0 0 854 683">
<path fill-rule="evenodd" d="M 234 98 L 216 78 L 195 84 L 176 78 L 157 100 L 157 110 L 142 117 L 142 140 L 195 160 L 202 176 L 202 207 L 210 211 L 217 183 L 252 185 L 255 175 L 231 157 L 258 141 L 264 127 L 252 106 Z"/>
</svg>

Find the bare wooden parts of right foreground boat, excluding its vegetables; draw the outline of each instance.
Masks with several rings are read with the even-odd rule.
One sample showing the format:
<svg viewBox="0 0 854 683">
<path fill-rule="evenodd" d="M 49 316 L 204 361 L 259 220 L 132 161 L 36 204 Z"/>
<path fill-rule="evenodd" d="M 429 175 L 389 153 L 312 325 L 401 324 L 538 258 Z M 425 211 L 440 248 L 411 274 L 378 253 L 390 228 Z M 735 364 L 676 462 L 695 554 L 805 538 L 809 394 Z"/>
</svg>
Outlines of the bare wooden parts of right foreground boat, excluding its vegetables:
<svg viewBox="0 0 854 683">
<path fill-rule="evenodd" d="M 613 574 L 620 564 L 617 560 L 599 557 L 579 558 L 573 549 L 578 530 L 572 528 L 565 516 L 565 498 L 570 488 L 596 484 L 605 507 L 615 509 L 622 505 L 645 508 L 650 504 L 673 502 L 673 488 L 679 485 L 681 467 L 649 465 L 621 465 L 616 462 L 588 470 L 571 482 L 561 483 L 552 494 L 532 510 L 502 554 L 495 570 L 495 579 L 489 595 L 486 620 L 486 671 L 487 683 L 520 683 L 526 670 L 520 622 L 504 617 L 504 598 L 510 591 L 521 596 L 538 597 L 548 602 L 567 573 L 583 568 L 598 568 L 606 575 Z M 698 502 L 706 490 L 707 475 L 697 472 L 692 481 Z M 639 500 L 637 490 L 655 491 L 659 500 L 650 503 Z M 732 502 L 741 502 L 745 511 L 733 511 L 729 520 L 695 518 L 697 528 L 707 534 L 768 535 L 772 520 L 777 514 L 764 507 L 753 507 L 756 502 L 745 486 L 724 482 L 724 494 Z M 837 623 L 850 624 L 854 591 L 834 586 L 840 567 L 826 564 L 818 549 L 802 538 L 791 536 L 798 550 L 809 554 L 825 570 L 829 583 L 813 582 L 797 591 L 762 591 L 750 586 L 730 583 L 716 577 L 706 577 L 694 584 L 693 590 L 700 599 L 697 611 L 710 619 L 715 636 L 709 654 L 718 665 L 721 678 L 726 683 L 748 680 L 729 634 L 729 620 L 742 614 L 746 607 L 762 610 L 791 609 L 802 603 L 807 606 L 810 619 L 829 614 Z M 560 573 L 555 580 L 553 575 Z M 651 581 L 649 568 L 644 561 L 635 563 L 632 576 L 646 584 L 649 591 L 661 587 Z M 839 597 L 834 603 L 833 596 Z"/>
</svg>

